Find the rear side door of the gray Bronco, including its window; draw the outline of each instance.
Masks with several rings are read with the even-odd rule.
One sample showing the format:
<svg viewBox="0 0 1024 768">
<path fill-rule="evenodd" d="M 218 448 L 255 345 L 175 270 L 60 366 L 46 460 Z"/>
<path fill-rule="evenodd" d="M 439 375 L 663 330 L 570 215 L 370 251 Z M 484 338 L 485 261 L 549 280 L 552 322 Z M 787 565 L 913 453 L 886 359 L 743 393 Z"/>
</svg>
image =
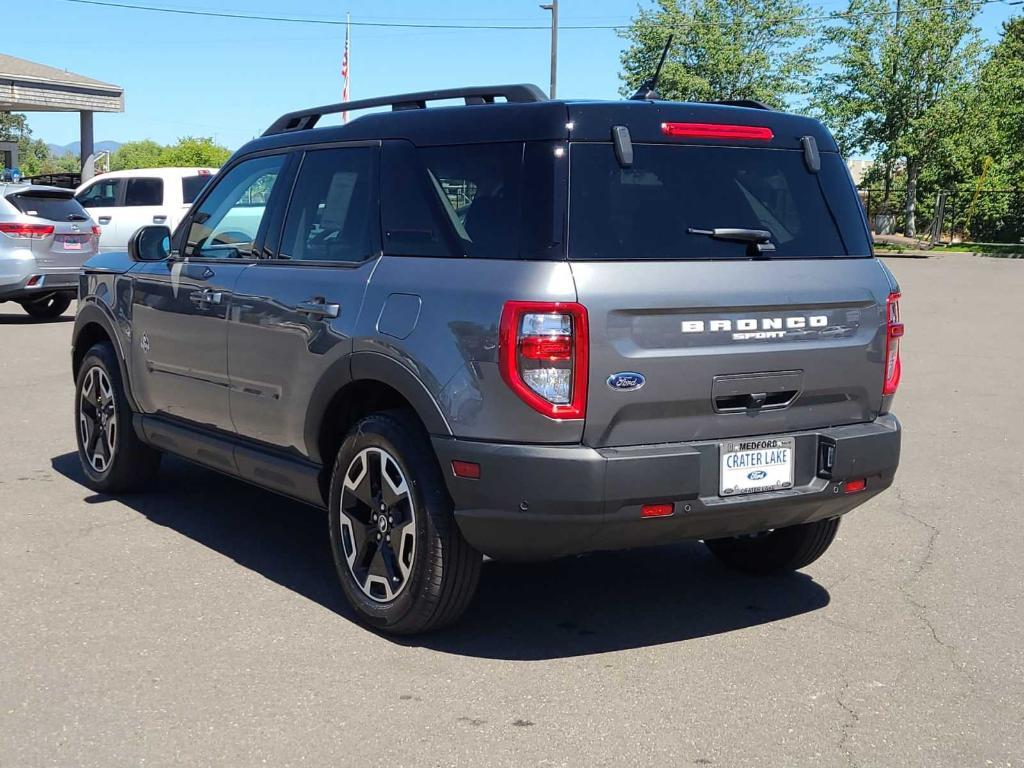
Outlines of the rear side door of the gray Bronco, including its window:
<svg viewBox="0 0 1024 768">
<path fill-rule="evenodd" d="M 380 254 L 379 155 L 379 142 L 306 150 L 273 258 L 234 287 L 227 357 L 241 436 L 318 459 L 306 413 L 318 383 L 348 375 Z"/>
</svg>

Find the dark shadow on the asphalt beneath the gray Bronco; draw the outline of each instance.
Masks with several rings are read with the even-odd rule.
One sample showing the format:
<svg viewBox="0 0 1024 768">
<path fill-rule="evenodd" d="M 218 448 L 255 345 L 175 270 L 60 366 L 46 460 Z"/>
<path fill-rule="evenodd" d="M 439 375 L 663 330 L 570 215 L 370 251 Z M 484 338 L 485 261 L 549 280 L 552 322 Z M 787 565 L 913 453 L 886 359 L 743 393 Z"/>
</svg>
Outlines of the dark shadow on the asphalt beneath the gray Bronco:
<svg viewBox="0 0 1024 768">
<path fill-rule="evenodd" d="M 83 484 L 75 454 L 51 464 Z M 87 503 L 112 500 L 87 493 Z M 355 621 L 336 581 L 323 512 L 175 458 L 165 458 L 155 493 L 118 501 Z M 445 653 L 539 660 L 718 635 L 817 610 L 828 600 L 810 577 L 737 574 L 693 543 L 546 563 L 487 561 L 458 626 L 390 639 Z"/>
</svg>

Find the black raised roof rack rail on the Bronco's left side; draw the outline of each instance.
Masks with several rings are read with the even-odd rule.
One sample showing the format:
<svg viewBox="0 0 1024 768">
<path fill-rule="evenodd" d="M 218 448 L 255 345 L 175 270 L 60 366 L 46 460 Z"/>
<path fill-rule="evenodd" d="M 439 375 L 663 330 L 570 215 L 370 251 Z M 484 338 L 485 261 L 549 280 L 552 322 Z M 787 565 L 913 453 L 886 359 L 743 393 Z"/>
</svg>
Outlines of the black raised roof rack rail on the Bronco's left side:
<svg viewBox="0 0 1024 768">
<path fill-rule="evenodd" d="M 423 110 L 427 101 L 439 101 L 445 98 L 462 98 L 467 104 L 493 104 L 495 99 L 503 97 L 506 101 L 515 103 L 530 103 L 547 101 L 544 91 L 529 83 L 515 85 L 483 85 L 467 88 L 447 88 L 436 91 L 419 91 L 417 93 L 399 93 L 394 96 L 379 96 L 364 98 L 358 101 L 342 101 L 336 104 L 313 106 L 309 110 L 299 110 L 282 115 L 263 132 L 264 136 L 275 133 L 289 133 L 313 128 L 325 115 L 340 115 L 343 112 L 369 110 L 373 106 L 390 106 L 393 111 Z"/>
</svg>

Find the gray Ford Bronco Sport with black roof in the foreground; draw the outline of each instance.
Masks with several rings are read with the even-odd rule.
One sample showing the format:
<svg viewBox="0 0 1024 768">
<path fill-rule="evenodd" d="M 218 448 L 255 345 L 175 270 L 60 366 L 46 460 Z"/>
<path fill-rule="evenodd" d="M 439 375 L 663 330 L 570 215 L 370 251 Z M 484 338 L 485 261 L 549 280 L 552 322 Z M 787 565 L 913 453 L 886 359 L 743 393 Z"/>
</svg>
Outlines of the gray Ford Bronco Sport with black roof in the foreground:
<svg viewBox="0 0 1024 768">
<path fill-rule="evenodd" d="M 899 460 L 899 289 L 833 137 L 754 102 L 285 115 L 79 290 L 89 484 L 170 453 L 325 509 L 388 632 L 456 620 L 483 555 L 803 567 Z"/>
</svg>

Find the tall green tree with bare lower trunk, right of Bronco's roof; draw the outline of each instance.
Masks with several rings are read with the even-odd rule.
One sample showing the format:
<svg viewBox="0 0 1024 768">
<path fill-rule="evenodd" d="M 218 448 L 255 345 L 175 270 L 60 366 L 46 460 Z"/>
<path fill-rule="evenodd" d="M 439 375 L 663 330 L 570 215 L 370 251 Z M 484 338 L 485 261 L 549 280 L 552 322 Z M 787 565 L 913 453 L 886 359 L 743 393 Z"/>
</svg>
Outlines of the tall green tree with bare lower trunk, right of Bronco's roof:
<svg viewBox="0 0 1024 768">
<path fill-rule="evenodd" d="M 845 152 L 871 153 L 884 169 L 884 205 L 893 176 L 905 177 L 905 232 L 916 233 L 919 181 L 948 160 L 944 141 L 970 118 L 966 98 L 982 46 L 976 0 L 849 0 L 826 31 L 834 69 L 820 76 L 815 104 Z M 932 174 L 934 175 L 934 174 Z"/>
</svg>

